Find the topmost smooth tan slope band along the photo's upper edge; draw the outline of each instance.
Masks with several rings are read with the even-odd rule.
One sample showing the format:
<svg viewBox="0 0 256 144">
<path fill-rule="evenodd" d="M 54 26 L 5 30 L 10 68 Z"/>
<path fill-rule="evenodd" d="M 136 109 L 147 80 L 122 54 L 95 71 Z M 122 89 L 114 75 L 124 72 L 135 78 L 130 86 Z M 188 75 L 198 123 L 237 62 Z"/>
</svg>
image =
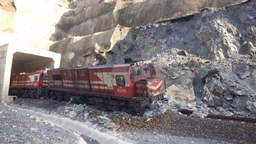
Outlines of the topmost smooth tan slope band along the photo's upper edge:
<svg viewBox="0 0 256 144">
<path fill-rule="evenodd" d="M 75 1 L 74 9 L 63 14 L 56 25 L 56 32 L 51 40 L 61 40 L 67 34 L 86 36 L 113 29 L 117 24 L 125 27 L 136 27 L 191 15 L 204 8 L 226 7 L 230 4 L 247 0 L 131 0 L 131 1 Z M 157 13 L 155 13 L 157 12 Z"/>
</svg>

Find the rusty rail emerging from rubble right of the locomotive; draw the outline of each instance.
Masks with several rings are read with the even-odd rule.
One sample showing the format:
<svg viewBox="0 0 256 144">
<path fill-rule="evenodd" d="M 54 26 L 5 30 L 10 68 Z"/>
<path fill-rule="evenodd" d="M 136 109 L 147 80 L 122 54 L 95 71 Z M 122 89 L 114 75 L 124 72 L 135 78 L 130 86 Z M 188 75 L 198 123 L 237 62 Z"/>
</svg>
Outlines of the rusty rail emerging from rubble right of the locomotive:
<svg viewBox="0 0 256 144">
<path fill-rule="evenodd" d="M 185 115 L 191 115 L 193 111 L 190 111 L 188 109 L 182 109 L 180 112 L 182 114 L 185 114 Z M 241 122 L 245 122 L 245 123 L 255 123 L 256 124 L 256 119 L 245 118 L 245 117 L 207 115 L 206 118 L 219 119 L 219 120 L 228 120 L 228 121 L 241 121 Z"/>
</svg>

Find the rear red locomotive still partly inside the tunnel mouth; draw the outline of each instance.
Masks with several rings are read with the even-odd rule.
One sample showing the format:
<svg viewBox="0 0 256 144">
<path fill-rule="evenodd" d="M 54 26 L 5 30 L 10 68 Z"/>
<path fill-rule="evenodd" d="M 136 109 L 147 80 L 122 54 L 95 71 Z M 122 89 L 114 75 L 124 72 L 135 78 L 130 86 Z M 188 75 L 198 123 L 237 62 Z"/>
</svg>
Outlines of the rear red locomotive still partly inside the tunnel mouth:
<svg viewBox="0 0 256 144">
<path fill-rule="evenodd" d="M 14 74 L 11 77 L 9 95 L 40 97 L 42 88 L 49 86 L 46 71 Z"/>
</svg>

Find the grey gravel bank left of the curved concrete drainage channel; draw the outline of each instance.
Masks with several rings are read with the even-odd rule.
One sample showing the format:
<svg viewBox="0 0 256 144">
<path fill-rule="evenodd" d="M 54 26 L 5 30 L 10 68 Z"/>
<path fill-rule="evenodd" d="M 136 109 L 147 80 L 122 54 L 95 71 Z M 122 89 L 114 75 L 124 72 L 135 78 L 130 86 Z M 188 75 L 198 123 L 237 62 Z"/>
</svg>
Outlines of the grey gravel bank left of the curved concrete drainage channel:
<svg viewBox="0 0 256 144">
<path fill-rule="evenodd" d="M 78 137 L 73 132 L 26 115 L 0 103 L 0 143 L 75 144 L 78 142 Z"/>
</svg>

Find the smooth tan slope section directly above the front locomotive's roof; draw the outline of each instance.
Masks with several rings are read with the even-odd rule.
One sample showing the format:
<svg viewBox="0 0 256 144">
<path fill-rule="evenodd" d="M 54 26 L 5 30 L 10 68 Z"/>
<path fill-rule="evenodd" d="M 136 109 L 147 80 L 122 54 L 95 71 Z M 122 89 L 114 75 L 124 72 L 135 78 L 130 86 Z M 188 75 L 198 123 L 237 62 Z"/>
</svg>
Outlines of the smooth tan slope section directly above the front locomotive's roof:
<svg viewBox="0 0 256 144">
<path fill-rule="evenodd" d="M 75 65 L 97 65 L 106 63 L 105 52 L 110 48 L 110 39 L 115 29 L 88 36 L 69 37 L 50 47 L 50 51 L 61 53 L 60 67 Z"/>
</svg>

